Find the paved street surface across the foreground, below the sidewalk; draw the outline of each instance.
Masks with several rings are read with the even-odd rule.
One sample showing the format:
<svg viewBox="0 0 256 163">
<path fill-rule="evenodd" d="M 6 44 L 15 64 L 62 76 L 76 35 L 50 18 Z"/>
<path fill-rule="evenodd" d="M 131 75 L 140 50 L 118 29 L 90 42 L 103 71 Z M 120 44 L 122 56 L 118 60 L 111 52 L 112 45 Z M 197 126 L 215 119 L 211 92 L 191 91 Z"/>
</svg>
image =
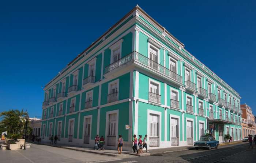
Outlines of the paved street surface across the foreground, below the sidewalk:
<svg viewBox="0 0 256 163">
<path fill-rule="evenodd" d="M 32 144 L 31 148 L 24 150 L 1 150 L 1 162 L 7 163 L 238 163 L 255 162 L 256 148 L 248 149 L 248 143 L 239 145 L 219 146 L 218 149 L 208 150 L 189 150 L 172 152 L 169 154 L 122 158 L 112 157 L 86 152 L 67 150 L 63 148 L 50 147 Z"/>
</svg>

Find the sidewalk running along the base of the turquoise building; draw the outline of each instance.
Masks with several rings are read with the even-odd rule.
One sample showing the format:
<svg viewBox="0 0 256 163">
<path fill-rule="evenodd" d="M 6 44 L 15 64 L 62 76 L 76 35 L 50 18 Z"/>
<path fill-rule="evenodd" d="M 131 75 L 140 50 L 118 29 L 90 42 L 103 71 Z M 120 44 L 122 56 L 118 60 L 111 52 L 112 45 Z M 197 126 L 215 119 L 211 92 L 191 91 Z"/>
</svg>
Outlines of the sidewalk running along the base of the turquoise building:
<svg viewBox="0 0 256 163">
<path fill-rule="evenodd" d="M 225 146 L 230 144 L 239 144 L 241 141 L 236 142 L 227 142 L 227 143 L 220 143 L 219 146 Z M 51 145 L 50 143 L 35 143 L 35 144 L 41 144 L 46 146 L 53 146 L 53 147 L 59 147 L 59 148 L 65 148 L 69 150 L 75 150 L 75 151 L 81 151 L 81 152 L 89 152 L 99 155 L 106 155 L 106 156 L 114 156 L 114 157 L 123 157 L 123 158 L 131 158 L 136 156 L 151 156 L 151 155 L 159 155 L 159 154 L 166 154 L 171 152 L 178 152 L 178 151 L 187 151 L 187 150 L 195 150 L 194 146 L 182 146 L 182 147 L 171 147 L 171 148 L 160 148 L 160 149 L 154 149 L 149 150 L 149 152 L 144 152 L 142 154 L 133 154 L 132 151 L 123 151 L 121 155 L 117 154 L 117 150 L 94 150 L 92 148 L 88 147 L 81 147 L 81 146 L 71 146 L 67 144 L 57 144 L 57 145 Z"/>
</svg>

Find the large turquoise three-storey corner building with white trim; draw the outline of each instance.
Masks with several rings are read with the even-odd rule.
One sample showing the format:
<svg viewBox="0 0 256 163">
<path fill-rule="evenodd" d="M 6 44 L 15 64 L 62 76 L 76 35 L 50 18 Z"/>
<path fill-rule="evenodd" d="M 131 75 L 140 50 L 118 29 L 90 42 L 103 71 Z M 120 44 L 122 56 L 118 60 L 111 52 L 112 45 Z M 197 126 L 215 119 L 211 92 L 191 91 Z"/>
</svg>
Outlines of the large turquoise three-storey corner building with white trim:
<svg viewBox="0 0 256 163">
<path fill-rule="evenodd" d="M 96 32 L 96 31 L 94 31 Z M 200 47 L 200 45 L 198 45 Z M 224 69 L 223 69 L 224 71 Z M 106 148 L 148 135 L 150 148 L 192 145 L 214 124 L 241 140 L 240 96 L 136 6 L 45 88 L 42 141 Z"/>
</svg>

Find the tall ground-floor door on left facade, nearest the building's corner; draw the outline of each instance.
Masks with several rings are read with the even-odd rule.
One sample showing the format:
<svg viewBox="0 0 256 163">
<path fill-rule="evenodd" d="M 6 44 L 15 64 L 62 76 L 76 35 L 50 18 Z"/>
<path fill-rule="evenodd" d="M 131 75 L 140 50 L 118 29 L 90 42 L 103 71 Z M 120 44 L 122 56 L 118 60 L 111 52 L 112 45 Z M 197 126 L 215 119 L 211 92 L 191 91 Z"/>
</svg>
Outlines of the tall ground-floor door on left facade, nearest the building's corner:
<svg viewBox="0 0 256 163">
<path fill-rule="evenodd" d="M 109 114 L 108 146 L 116 146 L 117 114 Z"/>
</svg>

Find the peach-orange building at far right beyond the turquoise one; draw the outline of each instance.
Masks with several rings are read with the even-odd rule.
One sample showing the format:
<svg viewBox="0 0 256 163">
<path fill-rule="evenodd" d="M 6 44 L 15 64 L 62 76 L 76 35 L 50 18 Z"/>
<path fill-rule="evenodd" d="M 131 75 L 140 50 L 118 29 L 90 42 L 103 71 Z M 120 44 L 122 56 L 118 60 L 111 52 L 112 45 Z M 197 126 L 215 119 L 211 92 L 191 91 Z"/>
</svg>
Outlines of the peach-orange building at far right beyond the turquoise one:
<svg viewBox="0 0 256 163">
<path fill-rule="evenodd" d="M 249 134 L 256 134 L 255 116 L 252 114 L 252 108 L 247 104 L 242 104 L 242 135 L 243 138 Z"/>
</svg>

